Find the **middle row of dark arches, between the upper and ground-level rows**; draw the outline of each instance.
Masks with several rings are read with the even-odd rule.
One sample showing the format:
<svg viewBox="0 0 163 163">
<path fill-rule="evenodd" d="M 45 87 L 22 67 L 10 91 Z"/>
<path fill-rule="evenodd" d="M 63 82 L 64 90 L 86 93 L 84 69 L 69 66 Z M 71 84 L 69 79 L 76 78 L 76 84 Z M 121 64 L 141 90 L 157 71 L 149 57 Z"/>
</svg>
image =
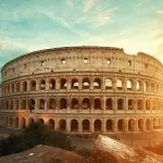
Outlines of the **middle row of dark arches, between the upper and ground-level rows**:
<svg viewBox="0 0 163 163">
<path fill-rule="evenodd" d="M 70 101 L 70 102 L 68 102 Z M 126 104 L 125 104 L 126 102 Z M 45 100 L 40 98 L 36 99 L 22 99 L 22 100 L 4 100 L 0 101 L 1 110 L 55 110 L 55 109 L 95 109 L 95 110 L 161 110 L 163 105 L 162 100 L 156 99 L 128 99 L 118 98 L 117 100 L 113 98 L 72 98 L 67 100 L 66 98 L 49 98 Z"/>
</svg>

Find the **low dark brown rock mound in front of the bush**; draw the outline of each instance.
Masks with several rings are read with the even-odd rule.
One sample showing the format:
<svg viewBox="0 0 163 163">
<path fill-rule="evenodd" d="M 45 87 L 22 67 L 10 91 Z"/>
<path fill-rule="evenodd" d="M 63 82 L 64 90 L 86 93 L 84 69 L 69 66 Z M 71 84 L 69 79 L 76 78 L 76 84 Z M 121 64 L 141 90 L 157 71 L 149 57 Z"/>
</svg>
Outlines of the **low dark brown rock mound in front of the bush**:
<svg viewBox="0 0 163 163">
<path fill-rule="evenodd" d="M 0 163 L 84 163 L 74 152 L 54 147 L 38 146 L 22 153 L 0 158 Z"/>
</svg>

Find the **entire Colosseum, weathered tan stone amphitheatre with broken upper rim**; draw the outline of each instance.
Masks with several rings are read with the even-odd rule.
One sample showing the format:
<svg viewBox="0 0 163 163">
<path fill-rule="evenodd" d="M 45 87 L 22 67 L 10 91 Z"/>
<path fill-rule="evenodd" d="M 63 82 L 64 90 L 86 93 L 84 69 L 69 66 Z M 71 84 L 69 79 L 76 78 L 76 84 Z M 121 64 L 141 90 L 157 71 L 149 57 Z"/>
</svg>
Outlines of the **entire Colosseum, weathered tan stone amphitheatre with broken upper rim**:
<svg viewBox="0 0 163 163">
<path fill-rule="evenodd" d="M 163 128 L 163 64 L 112 47 L 34 51 L 1 70 L 0 124 L 33 122 L 67 134 Z"/>
</svg>

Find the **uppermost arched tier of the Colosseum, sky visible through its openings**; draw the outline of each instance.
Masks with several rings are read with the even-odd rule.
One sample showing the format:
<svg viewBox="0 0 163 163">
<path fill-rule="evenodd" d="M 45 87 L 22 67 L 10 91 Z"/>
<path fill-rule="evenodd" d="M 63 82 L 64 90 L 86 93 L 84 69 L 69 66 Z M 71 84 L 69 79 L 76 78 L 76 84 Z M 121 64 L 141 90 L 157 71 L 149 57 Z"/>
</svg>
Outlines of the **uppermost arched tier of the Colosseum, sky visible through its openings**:
<svg viewBox="0 0 163 163">
<path fill-rule="evenodd" d="M 39 77 L 18 79 L 2 84 L 2 96 L 34 91 L 55 90 L 105 90 L 126 92 L 148 92 L 162 95 L 163 86 L 150 79 L 135 79 L 134 77 Z"/>
</svg>

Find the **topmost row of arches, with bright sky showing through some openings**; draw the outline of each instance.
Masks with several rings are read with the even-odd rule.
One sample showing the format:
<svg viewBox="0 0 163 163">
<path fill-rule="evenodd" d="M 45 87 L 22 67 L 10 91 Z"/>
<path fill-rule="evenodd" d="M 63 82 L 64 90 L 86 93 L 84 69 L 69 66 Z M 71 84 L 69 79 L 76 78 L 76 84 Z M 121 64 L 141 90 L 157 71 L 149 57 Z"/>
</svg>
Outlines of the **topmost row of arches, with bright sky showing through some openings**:
<svg viewBox="0 0 163 163">
<path fill-rule="evenodd" d="M 70 85 L 70 86 L 68 86 Z M 73 78 L 67 80 L 66 78 L 50 78 L 49 80 L 30 79 L 29 82 L 16 82 L 13 84 L 7 84 L 2 86 L 2 93 L 8 95 L 12 92 L 20 91 L 36 91 L 36 90 L 54 90 L 54 89 L 117 89 L 117 90 L 137 90 L 147 92 L 159 92 L 160 85 L 154 82 L 143 82 L 124 78 L 105 78 L 104 80 L 100 77 L 90 79 L 89 77 L 84 77 L 83 79 Z"/>
</svg>

